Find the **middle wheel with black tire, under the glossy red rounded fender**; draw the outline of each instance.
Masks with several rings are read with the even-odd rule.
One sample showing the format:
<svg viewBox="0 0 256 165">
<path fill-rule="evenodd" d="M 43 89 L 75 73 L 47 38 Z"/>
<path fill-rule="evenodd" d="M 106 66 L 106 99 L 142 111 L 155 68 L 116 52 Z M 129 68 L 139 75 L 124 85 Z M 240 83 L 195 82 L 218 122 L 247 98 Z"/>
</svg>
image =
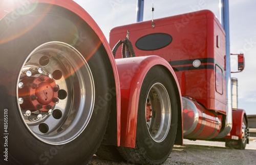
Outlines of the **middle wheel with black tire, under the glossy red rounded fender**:
<svg viewBox="0 0 256 165">
<path fill-rule="evenodd" d="M 118 148 L 130 163 L 160 164 L 172 151 L 178 122 L 174 85 L 161 66 L 146 74 L 139 97 L 135 148 Z"/>
</svg>

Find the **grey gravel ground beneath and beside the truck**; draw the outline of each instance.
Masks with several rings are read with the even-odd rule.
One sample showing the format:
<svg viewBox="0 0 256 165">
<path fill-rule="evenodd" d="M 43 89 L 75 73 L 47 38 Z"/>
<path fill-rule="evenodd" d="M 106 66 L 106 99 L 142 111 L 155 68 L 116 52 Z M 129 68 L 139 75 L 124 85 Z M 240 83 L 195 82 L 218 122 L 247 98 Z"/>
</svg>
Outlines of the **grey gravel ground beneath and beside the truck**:
<svg viewBox="0 0 256 165">
<path fill-rule="evenodd" d="M 172 153 L 163 164 L 256 164 L 256 139 L 251 139 L 245 150 L 225 148 L 222 142 L 188 141 L 184 146 L 175 145 Z M 108 161 L 94 155 L 89 161 L 95 164 L 129 164 L 126 162 Z"/>
</svg>

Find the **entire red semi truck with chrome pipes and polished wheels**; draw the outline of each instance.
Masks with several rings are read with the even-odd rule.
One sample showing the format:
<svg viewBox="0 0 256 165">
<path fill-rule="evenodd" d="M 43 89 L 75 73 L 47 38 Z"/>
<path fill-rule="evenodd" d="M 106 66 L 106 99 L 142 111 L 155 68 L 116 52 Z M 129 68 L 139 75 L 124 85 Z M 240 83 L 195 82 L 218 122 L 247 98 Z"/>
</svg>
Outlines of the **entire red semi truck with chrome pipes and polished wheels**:
<svg viewBox="0 0 256 165">
<path fill-rule="evenodd" d="M 95 153 L 160 164 L 183 138 L 249 142 L 229 36 L 211 11 L 120 26 L 108 43 L 73 1 L 0 8 L 1 164 L 86 164 Z"/>
</svg>

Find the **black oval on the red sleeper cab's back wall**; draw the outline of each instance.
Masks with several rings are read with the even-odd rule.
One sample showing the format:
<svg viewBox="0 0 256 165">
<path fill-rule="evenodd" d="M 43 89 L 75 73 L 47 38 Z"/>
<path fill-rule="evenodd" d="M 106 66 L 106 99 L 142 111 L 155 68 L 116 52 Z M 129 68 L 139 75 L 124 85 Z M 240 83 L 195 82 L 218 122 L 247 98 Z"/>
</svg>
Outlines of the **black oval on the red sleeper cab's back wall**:
<svg viewBox="0 0 256 165">
<path fill-rule="evenodd" d="M 139 38 L 135 45 L 140 50 L 158 50 L 168 46 L 173 37 L 166 33 L 153 33 Z"/>
</svg>

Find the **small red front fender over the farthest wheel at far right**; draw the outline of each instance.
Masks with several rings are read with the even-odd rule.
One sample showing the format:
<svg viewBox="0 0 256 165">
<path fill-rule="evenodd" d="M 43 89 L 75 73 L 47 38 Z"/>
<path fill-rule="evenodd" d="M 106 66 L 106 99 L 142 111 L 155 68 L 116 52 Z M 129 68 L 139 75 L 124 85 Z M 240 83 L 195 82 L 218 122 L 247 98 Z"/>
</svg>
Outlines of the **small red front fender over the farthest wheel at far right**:
<svg viewBox="0 0 256 165">
<path fill-rule="evenodd" d="M 244 116 L 245 116 L 246 122 L 248 124 L 248 119 L 247 119 L 244 109 L 238 109 L 236 111 L 232 111 L 232 116 L 233 116 L 233 120 L 232 120 L 233 125 L 232 125 L 232 129 L 230 131 L 230 135 L 238 136 L 239 139 L 243 139 L 242 123 L 243 123 Z"/>
</svg>

